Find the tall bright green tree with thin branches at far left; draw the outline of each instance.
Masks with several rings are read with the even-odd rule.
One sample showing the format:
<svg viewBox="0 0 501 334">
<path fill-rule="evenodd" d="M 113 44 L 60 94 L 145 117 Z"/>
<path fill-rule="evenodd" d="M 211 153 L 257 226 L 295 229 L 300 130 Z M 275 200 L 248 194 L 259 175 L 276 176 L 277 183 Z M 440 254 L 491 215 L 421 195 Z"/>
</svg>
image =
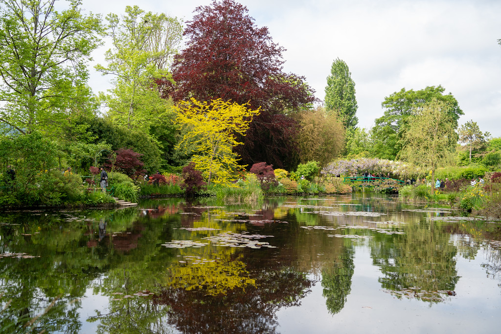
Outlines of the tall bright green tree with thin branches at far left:
<svg viewBox="0 0 501 334">
<path fill-rule="evenodd" d="M 0 122 L 29 134 L 59 126 L 91 96 L 87 61 L 100 45 L 99 16 L 81 1 L 0 0 Z"/>
</svg>

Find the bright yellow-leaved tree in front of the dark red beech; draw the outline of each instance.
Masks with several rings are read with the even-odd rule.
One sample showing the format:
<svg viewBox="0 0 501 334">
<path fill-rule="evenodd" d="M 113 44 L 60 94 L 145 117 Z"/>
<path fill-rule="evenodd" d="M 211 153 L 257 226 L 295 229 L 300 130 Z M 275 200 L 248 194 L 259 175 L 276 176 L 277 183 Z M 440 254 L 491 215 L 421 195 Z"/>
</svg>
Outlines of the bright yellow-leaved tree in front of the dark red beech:
<svg viewBox="0 0 501 334">
<path fill-rule="evenodd" d="M 176 123 L 184 130 L 176 149 L 194 153 L 191 161 L 209 184 L 230 183 L 238 168 L 238 156 L 233 147 L 242 144 L 236 141 L 236 134 L 245 136 L 259 110 L 221 99 L 181 101 L 176 109 Z"/>
</svg>

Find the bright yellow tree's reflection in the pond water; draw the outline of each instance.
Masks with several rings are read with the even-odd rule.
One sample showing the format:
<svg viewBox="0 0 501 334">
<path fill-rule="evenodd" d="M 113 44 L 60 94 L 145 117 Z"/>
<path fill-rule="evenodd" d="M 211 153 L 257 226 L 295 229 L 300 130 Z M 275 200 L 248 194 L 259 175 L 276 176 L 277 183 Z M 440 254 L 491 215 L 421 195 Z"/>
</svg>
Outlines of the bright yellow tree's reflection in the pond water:
<svg viewBox="0 0 501 334">
<path fill-rule="evenodd" d="M 171 288 L 187 291 L 203 289 L 208 295 L 225 294 L 234 288 L 255 285 L 256 280 L 248 278 L 245 264 L 227 259 L 198 260 L 190 263 L 172 265 L 167 269 L 168 276 L 163 282 Z"/>
</svg>

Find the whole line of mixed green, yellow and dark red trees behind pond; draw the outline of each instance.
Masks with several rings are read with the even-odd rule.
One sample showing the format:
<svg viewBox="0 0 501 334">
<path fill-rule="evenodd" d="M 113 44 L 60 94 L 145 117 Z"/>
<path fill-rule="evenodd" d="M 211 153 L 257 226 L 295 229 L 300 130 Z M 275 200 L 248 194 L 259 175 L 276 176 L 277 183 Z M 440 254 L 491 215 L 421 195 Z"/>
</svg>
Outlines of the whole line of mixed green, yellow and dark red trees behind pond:
<svg viewBox="0 0 501 334">
<path fill-rule="evenodd" d="M 80 0 L 61 3 L 0 0 L 2 147 L 43 139 L 60 168 L 82 171 L 127 148 L 150 173 L 191 161 L 206 180 L 224 182 L 255 163 L 294 170 L 341 156 L 432 168 L 501 162 L 501 139 L 473 121 L 458 129 L 464 113 L 440 85 L 390 94 L 374 127 L 357 127 L 348 65 L 333 62 L 320 101 L 305 77 L 283 71 L 284 47 L 234 0 L 197 7 L 185 28 L 138 6 L 103 20 Z M 95 70 L 112 87 L 95 94 L 88 64 L 105 39 L 111 48 Z M 21 159 L 5 157 L 4 165 Z"/>
</svg>

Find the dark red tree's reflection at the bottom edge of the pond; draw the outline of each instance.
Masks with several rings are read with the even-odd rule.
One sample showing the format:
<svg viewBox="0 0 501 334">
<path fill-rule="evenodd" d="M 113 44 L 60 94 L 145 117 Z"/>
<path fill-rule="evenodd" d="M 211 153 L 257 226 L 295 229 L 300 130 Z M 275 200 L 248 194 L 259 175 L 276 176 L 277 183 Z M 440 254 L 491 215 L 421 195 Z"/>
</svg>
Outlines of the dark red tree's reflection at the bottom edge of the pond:
<svg viewBox="0 0 501 334">
<path fill-rule="evenodd" d="M 282 307 L 299 305 L 313 284 L 303 273 L 288 268 L 262 270 L 252 276 L 257 276 L 258 287 L 234 288 L 217 296 L 206 295 L 203 289 L 165 287 L 153 300 L 170 306 L 167 321 L 183 333 L 208 329 L 223 333 L 274 333 L 278 325 L 275 313 Z"/>
</svg>

